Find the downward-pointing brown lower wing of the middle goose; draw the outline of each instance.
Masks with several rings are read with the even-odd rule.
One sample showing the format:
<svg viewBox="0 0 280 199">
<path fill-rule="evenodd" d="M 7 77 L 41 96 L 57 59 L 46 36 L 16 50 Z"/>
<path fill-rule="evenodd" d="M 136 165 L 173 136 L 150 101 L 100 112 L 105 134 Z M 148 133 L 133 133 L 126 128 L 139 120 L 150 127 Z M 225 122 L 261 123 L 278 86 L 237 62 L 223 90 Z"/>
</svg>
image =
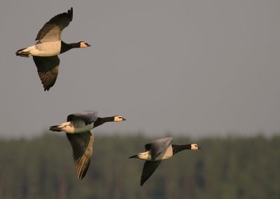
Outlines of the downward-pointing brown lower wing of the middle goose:
<svg viewBox="0 0 280 199">
<path fill-rule="evenodd" d="M 66 133 L 73 149 L 73 160 L 78 179 L 83 179 L 87 173 L 92 158 L 92 145 L 94 136 L 88 132 Z"/>
</svg>

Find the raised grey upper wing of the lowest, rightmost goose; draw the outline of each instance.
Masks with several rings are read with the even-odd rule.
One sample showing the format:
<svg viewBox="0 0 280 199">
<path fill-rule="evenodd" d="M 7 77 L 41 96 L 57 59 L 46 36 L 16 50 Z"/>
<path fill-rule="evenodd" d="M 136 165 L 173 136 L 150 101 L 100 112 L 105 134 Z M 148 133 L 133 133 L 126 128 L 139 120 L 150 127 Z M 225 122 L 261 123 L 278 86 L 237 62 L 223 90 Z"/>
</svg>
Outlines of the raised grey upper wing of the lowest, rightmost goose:
<svg viewBox="0 0 280 199">
<path fill-rule="evenodd" d="M 165 151 L 167 147 L 170 145 L 170 142 L 172 141 L 172 137 L 165 137 L 162 139 L 157 139 L 153 142 L 150 142 L 145 145 L 146 151 L 151 150 L 151 160 L 154 161 L 155 158 L 157 158 L 160 153 Z"/>
</svg>

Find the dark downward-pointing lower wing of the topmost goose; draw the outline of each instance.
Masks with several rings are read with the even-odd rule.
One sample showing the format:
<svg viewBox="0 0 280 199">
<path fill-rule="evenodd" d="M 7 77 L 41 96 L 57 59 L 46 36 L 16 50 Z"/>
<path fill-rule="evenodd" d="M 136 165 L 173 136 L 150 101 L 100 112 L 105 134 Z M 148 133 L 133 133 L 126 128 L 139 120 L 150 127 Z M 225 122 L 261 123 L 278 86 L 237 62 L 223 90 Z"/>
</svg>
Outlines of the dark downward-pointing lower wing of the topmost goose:
<svg viewBox="0 0 280 199">
<path fill-rule="evenodd" d="M 43 84 L 44 90 L 50 90 L 55 85 L 58 75 L 59 57 L 57 55 L 52 57 L 38 57 L 33 56 L 36 64 L 38 75 Z"/>
</svg>

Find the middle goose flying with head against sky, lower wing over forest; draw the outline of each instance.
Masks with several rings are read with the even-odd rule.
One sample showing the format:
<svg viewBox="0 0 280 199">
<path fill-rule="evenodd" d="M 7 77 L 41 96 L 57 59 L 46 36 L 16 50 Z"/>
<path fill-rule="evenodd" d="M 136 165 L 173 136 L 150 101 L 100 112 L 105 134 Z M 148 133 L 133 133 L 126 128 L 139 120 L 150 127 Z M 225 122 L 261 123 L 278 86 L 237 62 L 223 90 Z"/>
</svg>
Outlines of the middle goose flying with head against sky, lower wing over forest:
<svg viewBox="0 0 280 199">
<path fill-rule="evenodd" d="M 97 111 L 83 111 L 67 116 L 66 123 L 53 125 L 52 131 L 64 131 L 73 149 L 73 160 L 78 179 L 87 173 L 92 158 L 94 136 L 90 130 L 106 122 L 126 121 L 122 116 L 100 118 Z"/>
</svg>

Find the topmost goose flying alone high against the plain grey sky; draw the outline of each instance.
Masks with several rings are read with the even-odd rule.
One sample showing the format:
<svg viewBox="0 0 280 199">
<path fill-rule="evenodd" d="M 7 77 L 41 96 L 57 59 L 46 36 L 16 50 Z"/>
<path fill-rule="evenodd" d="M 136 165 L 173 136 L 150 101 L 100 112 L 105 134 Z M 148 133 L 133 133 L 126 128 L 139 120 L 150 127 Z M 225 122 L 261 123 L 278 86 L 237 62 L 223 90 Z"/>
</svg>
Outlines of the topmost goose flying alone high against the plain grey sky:
<svg viewBox="0 0 280 199">
<path fill-rule="evenodd" d="M 71 48 L 87 48 L 90 46 L 85 41 L 78 43 L 64 43 L 61 34 L 65 27 L 73 19 L 73 8 L 67 13 L 61 13 L 51 18 L 38 32 L 34 46 L 22 48 L 15 55 L 21 57 L 33 56 L 38 75 L 43 84 L 44 90 L 50 90 L 55 85 L 57 79 L 59 57 L 57 55 L 65 53 Z"/>
</svg>

